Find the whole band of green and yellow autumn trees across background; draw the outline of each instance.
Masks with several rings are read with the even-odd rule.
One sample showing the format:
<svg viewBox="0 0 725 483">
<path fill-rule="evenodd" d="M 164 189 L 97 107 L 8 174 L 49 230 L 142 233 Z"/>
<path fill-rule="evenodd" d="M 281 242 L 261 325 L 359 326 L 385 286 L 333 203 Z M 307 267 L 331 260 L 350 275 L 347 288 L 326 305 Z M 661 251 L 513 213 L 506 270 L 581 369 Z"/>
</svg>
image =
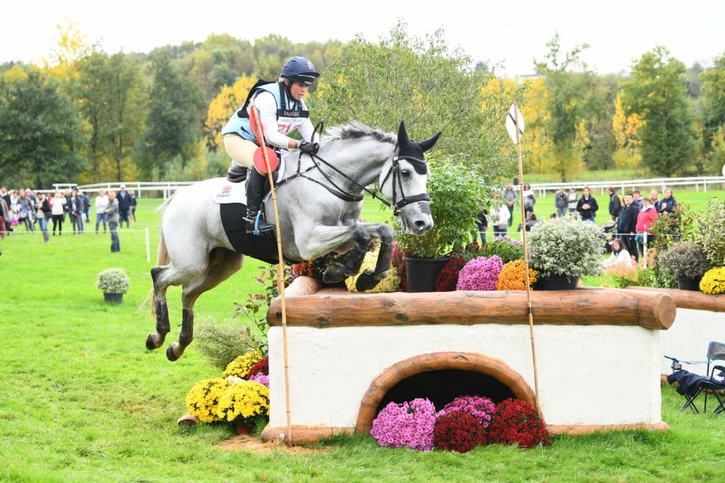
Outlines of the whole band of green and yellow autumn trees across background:
<svg viewBox="0 0 725 483">
<path fill-rule="evenodd" d="M 276 80 L 304 55 L 322 72 L 308 96 L 314 119 L 358 120 L 418 137 L 444 131 L 436 155 L 457 157 L 485 181 L 510 176 L 505 112 L 526 117 L 529 172 L 571 181 L 583 169 L 653 176 L 716 175 L 725 164 L 725 54 L 686 67 L 664 47 L 629 73 L 597 75 L 562 51 L 558 35 L 536 75 L 500 79 L 450 49 L 442 30 L 416 38 L 399 22 L 378 42 L 294 44 L 212 35 L 148 53 L 108 54 L 72 23 L 41 62 L 0 65 L 0 180 L 49 188 L 77 181 L 184 181 L 222 176 L 220 131 L 257 78 Z"/>
</svg>

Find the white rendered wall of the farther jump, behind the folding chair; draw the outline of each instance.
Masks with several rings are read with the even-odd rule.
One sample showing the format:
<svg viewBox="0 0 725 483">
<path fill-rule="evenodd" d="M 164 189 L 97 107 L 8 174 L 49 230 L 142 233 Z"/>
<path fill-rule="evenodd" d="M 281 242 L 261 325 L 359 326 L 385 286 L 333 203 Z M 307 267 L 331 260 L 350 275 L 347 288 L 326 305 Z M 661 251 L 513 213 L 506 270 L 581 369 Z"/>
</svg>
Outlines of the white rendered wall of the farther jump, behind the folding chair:
<svg viewBox="0 0 725 483">
<path fill-rule="evenodd" d="M 725 342 L 725 313 L 677 307 L 674 323 L 660 334 L 661 354 L 681 360 L 706 360 L 711 340 Z M 660 372 L 671 373 L 671 363 L 671 360 L 663 357 Z M 703 376 L 707 371 L 705 364 L 698 366 L 683 364 L 682 368 Z"/>
</svg>

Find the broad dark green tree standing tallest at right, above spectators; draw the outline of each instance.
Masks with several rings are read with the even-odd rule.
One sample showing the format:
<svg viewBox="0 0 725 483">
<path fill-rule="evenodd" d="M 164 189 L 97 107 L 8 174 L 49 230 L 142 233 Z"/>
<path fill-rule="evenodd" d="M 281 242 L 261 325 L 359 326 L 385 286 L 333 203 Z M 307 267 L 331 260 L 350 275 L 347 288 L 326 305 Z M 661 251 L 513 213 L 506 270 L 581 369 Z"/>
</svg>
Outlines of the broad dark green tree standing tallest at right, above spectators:
<svg viewBox="0 0 725 483">
<path fill-rule="evenodd" d="M 642 163 L 653 173 L 672 176 L 690 165 L 699 147 L 687 100 L 684 64 L 662 46 L 642 55 L 622 87 L 627 115 L 645 121 L 639 130 Z"/>
</svg>

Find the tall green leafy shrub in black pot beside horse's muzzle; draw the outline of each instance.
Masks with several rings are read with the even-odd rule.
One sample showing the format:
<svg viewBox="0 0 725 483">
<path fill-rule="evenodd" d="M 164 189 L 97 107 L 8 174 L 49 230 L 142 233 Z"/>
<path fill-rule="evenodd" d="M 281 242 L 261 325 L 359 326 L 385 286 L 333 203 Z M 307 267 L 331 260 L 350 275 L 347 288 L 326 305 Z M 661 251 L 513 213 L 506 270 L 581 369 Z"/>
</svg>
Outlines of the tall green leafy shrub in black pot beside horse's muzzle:
<svg viewBox="0 0 725 483">
<path fill-rule="evenodd" d="M 487 198 L 483 181 L 469 168 L 447 159 L 431 162 L 428 195 L 435 225 L 421 236 L 397 231 L 405 255 L 408 292 L 434 292 L 436 277 L 450 252 L 463 249 Z"/>
</svg>

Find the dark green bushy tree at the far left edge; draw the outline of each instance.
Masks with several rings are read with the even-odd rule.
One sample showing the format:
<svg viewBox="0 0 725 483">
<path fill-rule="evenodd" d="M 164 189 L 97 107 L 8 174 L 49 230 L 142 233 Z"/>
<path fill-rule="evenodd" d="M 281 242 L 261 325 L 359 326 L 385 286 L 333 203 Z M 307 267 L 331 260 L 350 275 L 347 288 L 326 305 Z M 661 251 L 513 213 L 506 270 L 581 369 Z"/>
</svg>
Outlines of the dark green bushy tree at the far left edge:
<svg viewBox="0 0 725 483">
<path fill-rule="evenodd" d="M 78 110 L 56 80 L 15 65 L 0 75 L 0 173 L 8 183 L 48 188 L 84 168 Z"/>
</svg>

